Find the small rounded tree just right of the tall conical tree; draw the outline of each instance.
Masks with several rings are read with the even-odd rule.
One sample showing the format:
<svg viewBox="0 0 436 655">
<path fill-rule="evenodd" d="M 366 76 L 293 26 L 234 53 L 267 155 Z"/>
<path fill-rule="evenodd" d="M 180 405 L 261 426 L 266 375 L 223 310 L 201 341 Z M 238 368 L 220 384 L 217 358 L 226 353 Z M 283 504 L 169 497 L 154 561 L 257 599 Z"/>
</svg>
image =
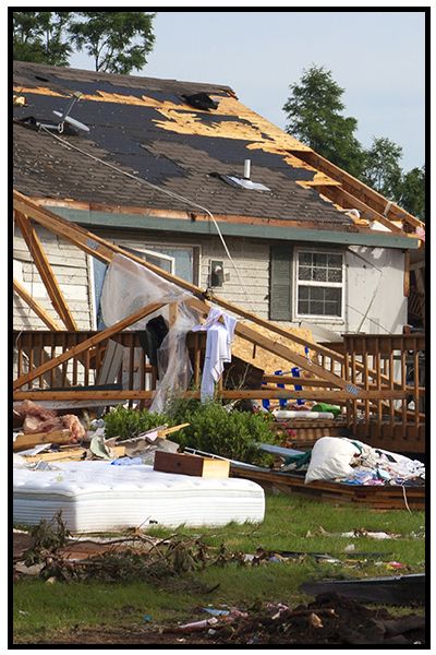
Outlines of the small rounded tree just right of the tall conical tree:
<svg viewBox="0 0 436 655">
<path fill-rule="evenodd" d="M 374 138 L 365 151 L 362 181 L 388 200 L 398 202 L 401 195 L 402 147 L 385 136 Z"/>
</svg>

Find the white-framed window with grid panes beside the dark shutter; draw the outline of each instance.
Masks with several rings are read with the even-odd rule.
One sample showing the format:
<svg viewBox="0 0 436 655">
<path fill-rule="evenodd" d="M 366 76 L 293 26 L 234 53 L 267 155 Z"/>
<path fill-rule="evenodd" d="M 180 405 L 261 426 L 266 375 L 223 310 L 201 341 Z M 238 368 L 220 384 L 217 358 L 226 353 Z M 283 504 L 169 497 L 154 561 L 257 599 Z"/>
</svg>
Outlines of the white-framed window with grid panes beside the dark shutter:
<svg viewBox="0 0 436 655">
<path fill-rule="evenodd" d="M 295 251 L 295 314 L 342 318 L 343 254 Z"/>
</svg>

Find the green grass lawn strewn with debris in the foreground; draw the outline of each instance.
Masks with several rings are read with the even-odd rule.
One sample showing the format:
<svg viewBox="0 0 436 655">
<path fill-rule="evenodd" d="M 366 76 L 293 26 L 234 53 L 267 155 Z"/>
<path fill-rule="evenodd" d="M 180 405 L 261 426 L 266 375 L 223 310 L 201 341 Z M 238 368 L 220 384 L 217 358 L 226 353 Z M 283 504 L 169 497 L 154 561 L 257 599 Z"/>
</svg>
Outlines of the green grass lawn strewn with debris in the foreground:
<svg viewBox="0 0 436 655">
<path fill-rule="evenodd" d="M 375 540 L 359 537 L 316 535 L 319 526 L 327 532 L 352 529 L 387 531 L 401 535 L 399 539 Z M 342 564 L 319 563 L 313 558 L 289 560 L 259 567 L 210 567 L 194 574 L 167 580 L 159 586 L 148 583 L 59 583 L 47 584 L 38 579 L 14 583 L 13 630 L 15 643 L 55 639 L 58 631 L 122 624 L 144 627 L 144 615 L 153 617 L 153 626 L 205 618 L 206 605 L 252 606 L 256 600 L 283 602 L 295 606 L 310 598 L 299 591 L 305 580 L 389 575 L 396 573 L 376 561 L 398 561 L 408 567 L 403 573 L 424 571 L 424 513 L 407 510 L 375 511 L 352 507 L 335 507 L 300 499 L 298 496 L 266 496 L 266 516 L 262 525 L 230 524 L 222 528 L 178 531 L 201 535 L 207 545 L 226 544 L 228 549 L 253 553 L 256 548 L 326 552 L 343 560 Z M 175 531 L 153 528 L 148 534 L 166 536 Z M 354 544 L 355 551 L 380 553 L 366 563 L 351 561 L 344 548 Z M 353 553 L 354 556 L 354 553 Z M 363 559 L 363 558 L 360 558 Z M 202 583 L 202 584 L 199 584 Z M 204 590 L 217 588 L 211 593 Z"/>
</svg>

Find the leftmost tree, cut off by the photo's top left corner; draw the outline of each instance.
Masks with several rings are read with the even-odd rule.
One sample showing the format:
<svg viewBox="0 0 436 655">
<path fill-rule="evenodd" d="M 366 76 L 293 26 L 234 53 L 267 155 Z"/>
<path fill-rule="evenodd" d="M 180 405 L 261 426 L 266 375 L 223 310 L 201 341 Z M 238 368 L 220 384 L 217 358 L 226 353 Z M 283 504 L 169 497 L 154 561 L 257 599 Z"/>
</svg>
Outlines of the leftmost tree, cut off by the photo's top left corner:
<svg viewBox="0 0 436 655">
<path fill-rule="evenodd" d="M 13 58 L 51 66 L 69 66 L 72 47 L 66 39 L 71 12 L 14 11 Z"/>
</svg>

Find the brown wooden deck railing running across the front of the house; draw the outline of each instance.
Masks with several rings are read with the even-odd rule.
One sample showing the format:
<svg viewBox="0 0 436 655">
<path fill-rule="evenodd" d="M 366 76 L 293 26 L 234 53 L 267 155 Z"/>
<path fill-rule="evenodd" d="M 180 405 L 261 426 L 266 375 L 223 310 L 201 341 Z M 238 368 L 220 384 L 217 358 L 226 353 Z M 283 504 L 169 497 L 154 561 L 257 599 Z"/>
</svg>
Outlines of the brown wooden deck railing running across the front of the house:
<svg viewBox="0 0 436 655">
<path fill-rule="evenodd" d="M 20 378 L 47 359 L 62 353 L 97 334 L 94 331 L 51 332 L 21 331 L 14 333 L 15 376 Z M 124 346 L 123 362 L 111 382 L 121 382 L 122 391 L 113 392 L 119 400 L 145 401 L 156 389 L 157 371 L 141 346 L 140 333 L 120 332 L 112 335 L 114 342 Z M 189 334 L 187 345 L 193 362 L 194 384 L 199 385 L 201 366 L 204 356 L 206 334 Z M 105 352 L 109 340 L 71 357 L 56 369 L 31 380 L 23 385 L 16 396 L 34 397 L 38 391 L 53 389 L 51 395 L 58 398 L 59 389 L 82 386 L 73 391 L 77 400 L 111 398 L 105 391 L 93 391 L 92 385 L 99 379 Z M 262 391 L 235 389 L 225 390 L 218 385 L 218 395 L 230 398 L 306 398 L 331 402 L 346 408 L 347 425 L 352 434 L 362 441 L 387 450 L 399 452 L 423 452 L 425 428 L 425 335 L 367 335 L 347 334 L 338 353 L 339 359 L 317 355 L 317 364 L 340 376 L 351 389 L 359 389 L 360 395 L 338 389 L 328 380 L 316 376 L 295 378 L 264 374 Z M 307 376 L 307 373 L 305 373 Z M 283 389 L 277 386 L 284 384 Z M 295 385 L 303 391 L 294 391 Z M 89 388 L 90 390 L 86 389 Z M 194 392 L 198 395 L 198 392 Z M 48 397 L 48 395 L 46 397 Z M 116 395 L 113 395 L 116 397 Z"/>
</svg>

